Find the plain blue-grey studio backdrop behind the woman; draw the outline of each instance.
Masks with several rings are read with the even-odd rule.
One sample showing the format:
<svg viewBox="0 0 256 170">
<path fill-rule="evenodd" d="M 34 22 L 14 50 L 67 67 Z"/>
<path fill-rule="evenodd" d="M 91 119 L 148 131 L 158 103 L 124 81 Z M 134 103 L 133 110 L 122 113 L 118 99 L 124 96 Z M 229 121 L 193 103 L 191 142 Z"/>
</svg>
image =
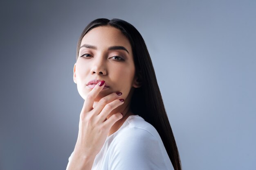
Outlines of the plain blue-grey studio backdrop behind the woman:
<svg viewBox="0 0 256 170">
<path fill-rule="evenodd" d="M 146 41 L 184 170 L 253 170 L 256 1 L 1 1 L 0 169 L 63 170 L 83 99 L 76 43 L 120 18 Z"/>
</svg>

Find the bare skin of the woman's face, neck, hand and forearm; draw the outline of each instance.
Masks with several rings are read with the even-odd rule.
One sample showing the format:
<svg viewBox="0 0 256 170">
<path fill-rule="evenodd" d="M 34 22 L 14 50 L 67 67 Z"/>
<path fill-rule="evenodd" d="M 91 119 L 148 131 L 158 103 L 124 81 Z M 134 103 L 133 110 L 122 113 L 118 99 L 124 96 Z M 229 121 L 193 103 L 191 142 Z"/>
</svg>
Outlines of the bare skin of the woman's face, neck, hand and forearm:
<svg viewBox="0 0 256 170">
<path fill-rule="evenodd" d="M 91 170 L 106 137 L 115 133 L 128 116 L 134 115 L 129 109 L 130 99 L 134 88 L 141 86 L 135 76 L 130 42 L 119 29 L 111 26 L 93 28 L 83 37 L 81 46 L 83 44 L 97 49 L 81 48 L 74 65 L 74 82 L 85 101 L 80 113 L 78 139 L 67 170 Z M 124 46 L 129 52 L 109 50 L 111 46 Z M 83 54 L 86 55 L 80 57 Z M 109 88 L 96 85 L 89 89 L 86 83 L 92 79 L 106 81 Z M 121 98 L 124 102 L 119 100 Z"/>
</svg>

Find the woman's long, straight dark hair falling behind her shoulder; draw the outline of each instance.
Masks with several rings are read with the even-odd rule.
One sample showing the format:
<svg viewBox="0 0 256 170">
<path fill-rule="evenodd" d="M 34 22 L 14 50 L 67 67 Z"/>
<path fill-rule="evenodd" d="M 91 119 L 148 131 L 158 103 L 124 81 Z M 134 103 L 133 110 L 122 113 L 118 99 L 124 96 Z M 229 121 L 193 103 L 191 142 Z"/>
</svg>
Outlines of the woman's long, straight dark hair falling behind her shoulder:
<svg viewBox="0 0 256 170">
<path fill-rule="evenodd" d="M 138 114 L 155 127 L 164 143 L 164 147 L 174 169 L 181 170 L 179 152 L 164 108 L 163 99 L 155 76 L 155 70 L 144 39 L 139 31 L 128 22 L 116 18 L 112 20 L 106 18 L 93 20 L 85 27 L 79 37 L 76 49 L 76 60 L 79 57 L 79 48 L 82 38 L 88 31 L 98 26 L 113 26 L 118 28 L 130 41 L 135 63 L 135 72 L 139 78 L 138 81 L 142 83 L 141 87 L 135 88 L 132 94 L 130 109 L 133 113 Z"/>
</svg>

